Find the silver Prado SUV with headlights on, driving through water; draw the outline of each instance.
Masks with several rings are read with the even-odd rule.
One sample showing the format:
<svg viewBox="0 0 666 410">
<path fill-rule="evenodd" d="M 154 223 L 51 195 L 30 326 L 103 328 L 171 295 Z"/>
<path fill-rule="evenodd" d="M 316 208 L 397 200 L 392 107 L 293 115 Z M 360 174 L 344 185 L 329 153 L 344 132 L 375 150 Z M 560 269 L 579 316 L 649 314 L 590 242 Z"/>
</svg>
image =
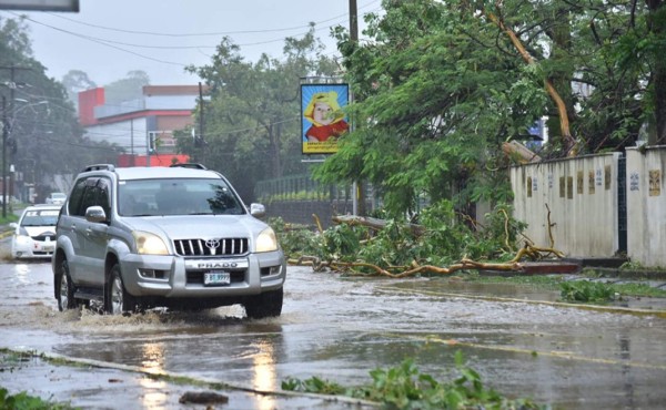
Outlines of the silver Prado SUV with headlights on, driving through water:
<svg viewBox="0 0 666 410">
<path fill-rule="evenodd" d="M 118 315 L 242 304 L 251 318 L 280 316 L 286 265 L 264 213 L 199 164 L 88 166 L 56 229 L 58 307 L 94 299 Z"/>
</svg>

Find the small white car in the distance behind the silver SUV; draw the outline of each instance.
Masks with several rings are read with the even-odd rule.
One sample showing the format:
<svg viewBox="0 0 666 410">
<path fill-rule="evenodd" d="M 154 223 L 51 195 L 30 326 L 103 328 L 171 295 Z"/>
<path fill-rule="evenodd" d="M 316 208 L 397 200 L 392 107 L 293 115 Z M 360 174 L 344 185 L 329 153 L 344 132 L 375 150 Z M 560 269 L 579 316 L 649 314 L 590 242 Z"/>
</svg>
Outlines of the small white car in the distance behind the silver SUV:
<svg viewBox="0 0 666 410">
<path fill-rule="evenodd" d="M 56 250 L 56 224 L 60 205 L 32 205 L 23 209 L 11 238 L 11 256 L 19 258 L 51 258 Z"/>
</svg>

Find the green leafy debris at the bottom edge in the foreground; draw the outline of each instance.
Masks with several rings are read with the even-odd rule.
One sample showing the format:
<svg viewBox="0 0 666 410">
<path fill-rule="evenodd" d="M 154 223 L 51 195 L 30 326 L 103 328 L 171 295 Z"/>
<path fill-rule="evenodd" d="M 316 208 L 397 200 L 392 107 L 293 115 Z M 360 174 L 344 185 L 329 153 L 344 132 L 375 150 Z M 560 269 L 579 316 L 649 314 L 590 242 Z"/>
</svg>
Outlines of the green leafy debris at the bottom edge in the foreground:
<svg viewBox="0 0 666 410">
<path fill-rule="evenodd" d="M 283 390 L 321 394 L 347 396 L 379 402 L 386 409 L 547 409 L 529 399 L 508 399 L 486 387 L 481 376 L 465 365 L 463 355 L 455 353 L 455 375 L 452 380 L 437 381 L 423 373 L 412 359 L 389 369 L 370 372 L 372 382 L 362 387 L 343 387 L 311 377 L 305 380 L 287 378 Z"/>
</svg>

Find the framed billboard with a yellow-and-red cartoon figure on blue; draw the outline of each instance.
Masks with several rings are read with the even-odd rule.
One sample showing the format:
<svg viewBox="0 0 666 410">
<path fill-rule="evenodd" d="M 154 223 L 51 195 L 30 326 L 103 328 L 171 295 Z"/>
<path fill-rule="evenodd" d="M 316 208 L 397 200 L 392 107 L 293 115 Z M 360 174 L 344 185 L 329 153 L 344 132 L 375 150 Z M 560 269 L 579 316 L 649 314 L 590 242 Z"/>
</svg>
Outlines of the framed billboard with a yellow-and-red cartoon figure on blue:
<svg viewBox="0 0 666 410">
<path fill-rule="evenodd" d="M 350 129 L 343 112 L 349 101 L 347 84 L 301 84 L 303 154 L 337 152 L 337 139 Z"/>
</svg>

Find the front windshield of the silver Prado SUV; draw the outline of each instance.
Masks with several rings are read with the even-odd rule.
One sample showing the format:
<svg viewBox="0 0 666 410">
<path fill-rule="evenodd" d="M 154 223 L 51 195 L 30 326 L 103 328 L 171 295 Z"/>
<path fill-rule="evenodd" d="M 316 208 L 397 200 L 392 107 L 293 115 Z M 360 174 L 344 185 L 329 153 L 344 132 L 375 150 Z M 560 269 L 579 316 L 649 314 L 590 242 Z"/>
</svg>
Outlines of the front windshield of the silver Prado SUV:
<svg viewBox="0 0 666 410">
<path fill-rule="evenodd" d="M 120 181 L 122 216 L 241 215 L 245 209 L 222 180 L 163 178 Z"/>
</svg>

